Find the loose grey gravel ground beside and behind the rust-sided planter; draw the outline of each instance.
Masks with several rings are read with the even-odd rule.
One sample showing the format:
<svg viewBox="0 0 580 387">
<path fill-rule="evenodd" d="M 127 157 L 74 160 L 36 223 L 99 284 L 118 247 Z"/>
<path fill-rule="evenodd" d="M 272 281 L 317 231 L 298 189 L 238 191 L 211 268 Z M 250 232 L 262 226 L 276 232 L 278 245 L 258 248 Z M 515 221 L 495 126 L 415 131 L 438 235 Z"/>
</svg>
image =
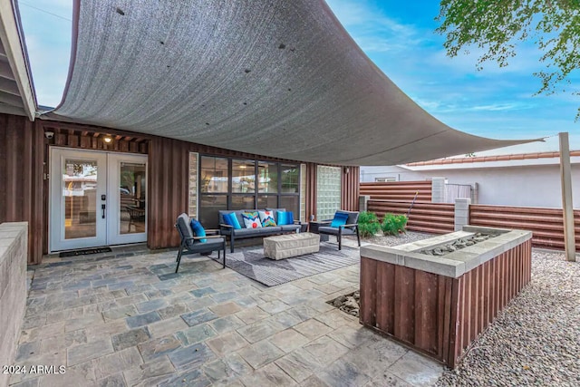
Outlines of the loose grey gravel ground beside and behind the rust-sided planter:
<svg viewBox="0 0 580 387">
<path fill-rule="evenodd" d="M 432 237 L 364 239 L 396 246 Z M 437 386 L 580 385 L 580 262 L 533 250 L 532 280 Z"/>
</svg>

